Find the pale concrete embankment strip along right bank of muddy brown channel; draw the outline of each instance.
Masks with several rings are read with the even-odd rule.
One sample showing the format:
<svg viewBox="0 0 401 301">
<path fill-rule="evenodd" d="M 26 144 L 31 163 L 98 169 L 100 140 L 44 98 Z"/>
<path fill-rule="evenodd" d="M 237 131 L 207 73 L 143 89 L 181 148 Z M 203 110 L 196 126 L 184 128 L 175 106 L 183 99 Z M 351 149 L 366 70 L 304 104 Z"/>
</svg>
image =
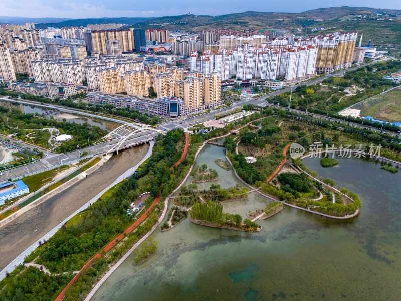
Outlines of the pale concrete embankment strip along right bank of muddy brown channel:
<svg viewBox="0 0 401 301">
<path fill-rule="evenodd" d="M 43 241 L 44 239 L 49 240 L 68 220 L 70 220 L 72 217 L 77 215 L 79 212 L 83 211 L 84 209 L 88 208 L 91 203 L 96 202 L 107 190 L 109 190 L 111 187 L 117 185 L 120 183 L 122 180 L 130 177 L 135 170 L 150 156 L 152 155 L 152 149 L 153 149 L 154 141 L 150 141 L 150 146 L 149 150 L 146 154 L 146 156 L 134 167 L 130 168 L 126 172 L 124 172 L 122 175 L 120 175 L 113 183 L 111 183 L 108 187 L 103 189 L 100 193 L 98 193 L 95 197 L 93 197 L 91 200 L 89 200 L 86 204 L 84 204 L 82 207 L 77 209 L 74 213 L 72 213 L 69 217 L 64 219 L 61 223 L 59 223 L 56 227 L 54 227 L 51 231 L 49 231 L 47 234 L 42 236 L 38 241 L 33 243 L 29 248 L 27 248 L 24 252 L 22 252 L 20 255 L 18 255 L 17 258 L 15 258 L 8 266 L 6 266 L 1 272 L 0 272 L 0 280 L 6 277 L 6 271 L 11 272 L 15 269 L 15 266 L 22 264 L 24 262 L 25 257 L 27 257 L 29 254 L 31 254 L 39 244 L 39 241 Z"/>
</svg>

